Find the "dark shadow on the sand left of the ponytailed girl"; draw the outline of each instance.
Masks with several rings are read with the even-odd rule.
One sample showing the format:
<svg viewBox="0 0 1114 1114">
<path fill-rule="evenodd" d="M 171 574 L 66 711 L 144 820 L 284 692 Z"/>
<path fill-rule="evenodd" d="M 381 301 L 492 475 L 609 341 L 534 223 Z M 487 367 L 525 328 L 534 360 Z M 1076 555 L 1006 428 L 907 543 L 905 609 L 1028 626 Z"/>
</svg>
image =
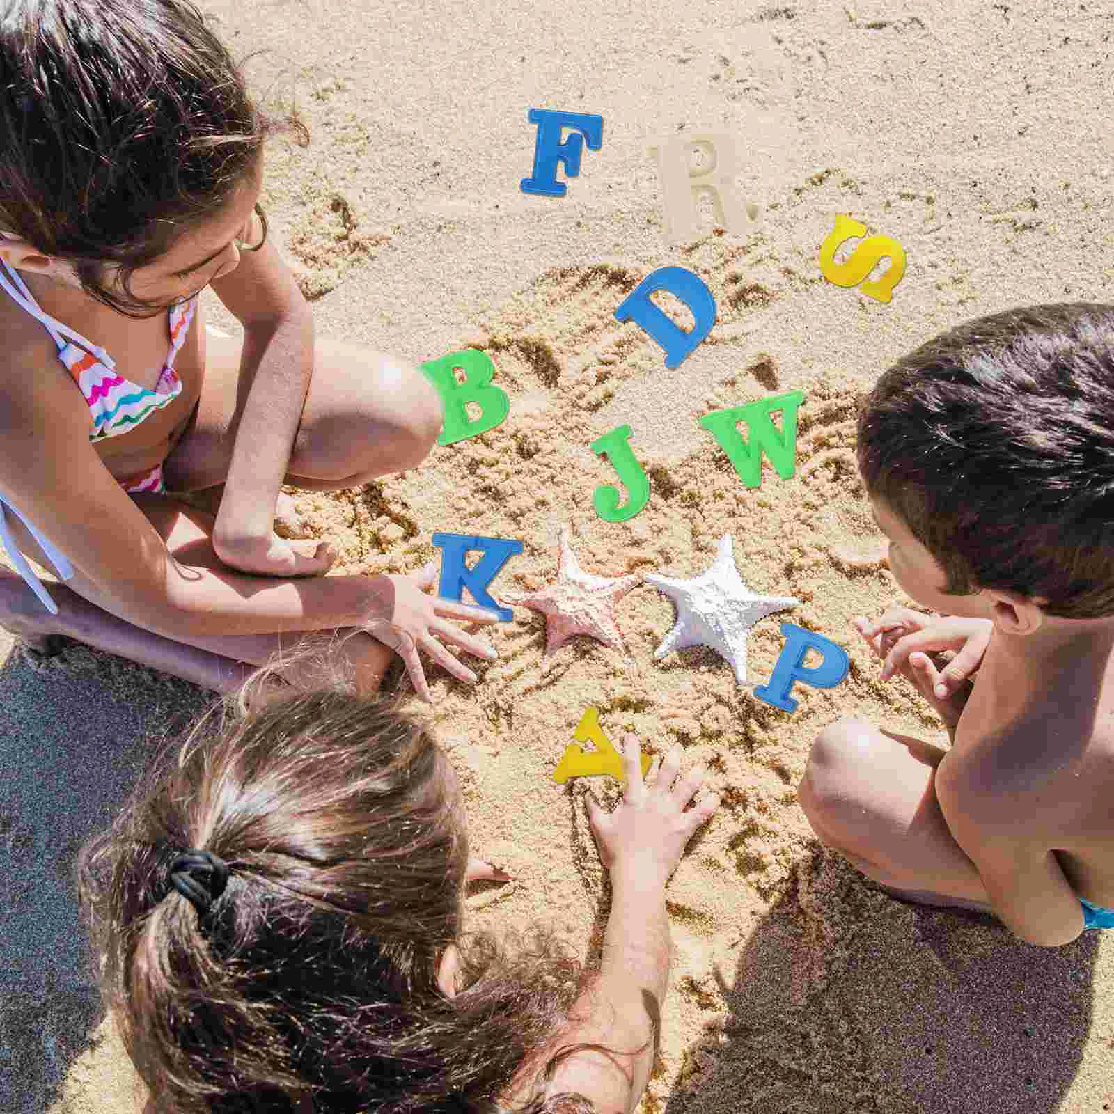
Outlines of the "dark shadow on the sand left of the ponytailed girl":
<svg viewBox="0 0 1114 1114">
<path fill-rule="evenodd" d="M 138 779 L 152 739 L 213 694 L 84 647 L 0 668 L 0 1111 L 41 1114 L 102 1018 L 77 852 Z"/>
</svg>

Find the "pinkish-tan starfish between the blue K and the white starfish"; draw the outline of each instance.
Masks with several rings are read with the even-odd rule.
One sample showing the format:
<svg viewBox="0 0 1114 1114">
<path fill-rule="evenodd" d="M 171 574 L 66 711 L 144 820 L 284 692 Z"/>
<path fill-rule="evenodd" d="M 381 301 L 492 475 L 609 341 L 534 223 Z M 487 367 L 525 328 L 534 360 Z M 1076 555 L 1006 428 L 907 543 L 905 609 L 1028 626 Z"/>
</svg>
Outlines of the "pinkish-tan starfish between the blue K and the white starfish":
<svg viewBox="0 0 1114 1114">
<path fill-rule="evenodd" d="M 615 605 L 639 584 L 641 573 L 612 577 L 582 571 L 569 548 L 569 528 L 563 526 L 557 579 L 538 592 L 514 599 L 505 594 L 504 600 L 545 615 L 546 655 L 578 634 L 586 634 L 605 646 L 615 646 L 626 653 L 623 634 L 615 620 Z"/>
</svg>

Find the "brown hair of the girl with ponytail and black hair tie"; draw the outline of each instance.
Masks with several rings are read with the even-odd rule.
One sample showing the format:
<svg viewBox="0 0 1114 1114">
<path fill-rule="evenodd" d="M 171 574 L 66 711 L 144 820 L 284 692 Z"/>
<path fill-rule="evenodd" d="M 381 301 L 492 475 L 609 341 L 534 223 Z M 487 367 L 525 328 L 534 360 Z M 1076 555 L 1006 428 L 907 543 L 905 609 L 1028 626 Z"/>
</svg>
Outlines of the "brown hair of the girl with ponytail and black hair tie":
<svg viewBox="0 0 1114 1114">
<path fill-rule="evenodd" d="M 461 932 L 448 761 L 399 704 L 339 690 L 226 704 L 164 747 L 78 862 L 94 968 L 160 1112 L 488 1112 L 525 1059 L 548 1079 L 598 1047 L 540 1064 L 592 993 L 548 930 Z M 169 879 L 195 849 L 228 868 L 204 915 Z M 593 1111 L 535 1086 L 530 1114 Z"/>
</svg>

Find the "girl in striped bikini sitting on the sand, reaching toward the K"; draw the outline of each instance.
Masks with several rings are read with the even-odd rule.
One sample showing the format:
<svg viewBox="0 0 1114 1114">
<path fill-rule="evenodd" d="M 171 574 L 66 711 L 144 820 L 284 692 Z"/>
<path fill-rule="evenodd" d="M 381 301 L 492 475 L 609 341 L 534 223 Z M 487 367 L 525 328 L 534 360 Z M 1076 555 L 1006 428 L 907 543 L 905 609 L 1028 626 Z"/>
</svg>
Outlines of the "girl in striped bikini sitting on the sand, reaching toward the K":
<svg viewBox="0 0 1114 1114">
<path fill-rule="evenodd" d="M 418 369 L 314 335 L 260 204 L 282 134 L 309 143 L 189 0 L 0 7 L 0 626 L 217 692 L 340 629 L 364 692 L 395 651 L 428 695 L 419 651 L 475 681 L 442 643 L 496 656 L 450 622 L 495 616 L 429 569 L 324 578 L 326 543 L 273 530 L 284 482 L 413 468 L 442 421 Z M 242 338 L 205 328 L 206 287 Z"/>
</svg>

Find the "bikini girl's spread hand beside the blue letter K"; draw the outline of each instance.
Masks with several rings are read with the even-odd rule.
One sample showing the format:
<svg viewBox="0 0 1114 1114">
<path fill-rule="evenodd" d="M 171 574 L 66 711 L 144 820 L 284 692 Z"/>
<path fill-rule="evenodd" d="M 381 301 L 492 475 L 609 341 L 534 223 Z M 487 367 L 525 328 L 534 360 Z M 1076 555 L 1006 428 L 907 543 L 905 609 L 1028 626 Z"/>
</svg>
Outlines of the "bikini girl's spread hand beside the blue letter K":
<svg viewBox="0 0 1114 1114">
<path fill-rule="evenodd" d="M 402 658 L 407 673 L 423 701 L 432 703 L 433 697 L 418 656 L 419 646 L 459 681 L 476 682 L 476 674 L 461 665 L 433 635 L 489 662 L 499 656 L 487 643 L 465 634 L 444 620 L 448 617 L 466 623 L 498 623 L 499 616 L 495 612 L 426 594 L 426 589 L 432 587 L 437 579 L 436 561 L 430 561 L 418 573 L 377 579 L 384 582 L 384 609 L 390 618 L 372 619 L 363 624 L 363 629 L 384 646 L 390 646 Z"/>
</svg>

